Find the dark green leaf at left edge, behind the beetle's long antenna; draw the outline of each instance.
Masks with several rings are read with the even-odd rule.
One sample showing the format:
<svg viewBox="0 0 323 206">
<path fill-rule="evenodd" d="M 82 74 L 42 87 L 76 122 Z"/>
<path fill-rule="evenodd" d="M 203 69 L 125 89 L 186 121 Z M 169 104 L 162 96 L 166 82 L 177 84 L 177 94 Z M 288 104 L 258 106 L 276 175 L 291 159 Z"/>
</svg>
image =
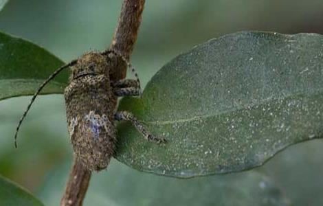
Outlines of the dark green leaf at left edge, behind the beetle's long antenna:
<svg viewBox="0 0 323 206">
<path fill-rule="evenodd" d="M 32 95 L 63 62 L 45 49 L 0 32 L 0 100 Z M 68 73 L 62 71 L 42 91 L 63 93 Z"/>
</svg>

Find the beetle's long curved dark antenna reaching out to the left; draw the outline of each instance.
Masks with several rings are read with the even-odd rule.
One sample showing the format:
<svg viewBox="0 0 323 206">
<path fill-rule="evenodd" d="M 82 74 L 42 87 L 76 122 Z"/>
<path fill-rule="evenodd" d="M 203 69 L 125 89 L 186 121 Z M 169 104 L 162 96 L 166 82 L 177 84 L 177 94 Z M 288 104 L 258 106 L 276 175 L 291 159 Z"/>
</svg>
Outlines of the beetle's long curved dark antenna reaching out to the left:
<svg viewBox="0 0 323 206">
<path fill-rule="evenodd" d="M 43 89 L 43 87 L 45 87 L 45 85 L 52 80 L 58 73 L 60 73 L 60 71 L 63 71 L 63 69 L 67 68 L 67 67 L 71 67 L 73 65 L 75 65 L 77 62 L 77 60 L 73 60 L 71 62 L 69 62 L 67 65 L 64 65 L 63 67 L 58 68 L 56 71 L 54 71 L 54 73 L 52 73 L 49 78 L 47 78 L 47 80 L 45 80 L 45 82 L 43 82 L 43 84 L 41 84 L 41 86 L 38 88 L 38 90 L 36 91 L 36 93 L 32 96 L 32 100 L 30 101 L 30 104 L 28 104 L 27 109 L 25 110 L 25 112 L 23 113 L 23 115 L 21 116 L 20 120 L 19 120 L 19 124 L 16 127 L 16 133 L 14 134 L 14 147 L 17 148 L 16 145 L 16 137 L 18 135 L 18 131 L 19 128 L 21 126 L 21 123 L 23 122 L 23 119 L 25 119 L 25 116 L 27 115 L 27 112 L 30 110 L 30 106 L 32 106 L 32 103 L 34 102 L 34 100 L 36 99 L 37 95 L 41 92 L 41 90 Z"/>
</svg>

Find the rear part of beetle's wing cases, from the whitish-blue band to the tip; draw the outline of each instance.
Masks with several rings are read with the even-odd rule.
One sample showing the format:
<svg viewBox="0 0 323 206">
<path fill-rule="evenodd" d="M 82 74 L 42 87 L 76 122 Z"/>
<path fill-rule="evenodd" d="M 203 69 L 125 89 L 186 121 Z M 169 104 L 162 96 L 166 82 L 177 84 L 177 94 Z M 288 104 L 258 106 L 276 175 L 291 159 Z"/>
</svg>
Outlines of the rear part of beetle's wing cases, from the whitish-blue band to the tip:
<svg viewBox="0 0 323 206">
<path fill-rule="evenodd" d="M 74 152 L 89 170 L 107 168 L 115 149 L 115 128 L 105 114 L 89 114 L 72 119 L 70 137 Z M 74 131 L 73 131 L 74 130 Z"/>
</svg>

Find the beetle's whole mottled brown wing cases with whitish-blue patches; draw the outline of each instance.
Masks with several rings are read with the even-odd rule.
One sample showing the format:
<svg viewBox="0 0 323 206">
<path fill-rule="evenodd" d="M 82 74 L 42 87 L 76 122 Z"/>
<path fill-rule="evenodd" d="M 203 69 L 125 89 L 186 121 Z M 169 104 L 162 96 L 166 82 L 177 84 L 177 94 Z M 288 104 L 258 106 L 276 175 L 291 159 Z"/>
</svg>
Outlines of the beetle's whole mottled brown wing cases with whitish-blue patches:
<svg viewBox="0 0 323 206">
<path fill-rule="evenodd" d="M 82 76 L 65 89 L 69 137 L 76 157 L 89 170 L 107 168 L 115 150 L 112 95 L 103 75 Z"/>
</svg>

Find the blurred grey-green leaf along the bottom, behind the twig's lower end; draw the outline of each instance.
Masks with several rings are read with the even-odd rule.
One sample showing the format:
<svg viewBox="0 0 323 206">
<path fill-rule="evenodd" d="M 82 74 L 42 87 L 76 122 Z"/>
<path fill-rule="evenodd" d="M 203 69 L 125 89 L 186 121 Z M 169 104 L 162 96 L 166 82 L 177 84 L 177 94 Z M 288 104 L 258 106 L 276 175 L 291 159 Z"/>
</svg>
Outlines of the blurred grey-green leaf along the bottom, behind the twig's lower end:
<svg viewBox="0 0 323 206">
<path fill-rule="evenodd" d="M 48 175 L 38 197 L 59 205 L 69 167 Z M 107 172 L 91 179 L 84 205 L 289 205 L 267 176 L 243 172 L 195 179 L 174 179 L 137 172 L 111 161 Z"/>
</svg>

